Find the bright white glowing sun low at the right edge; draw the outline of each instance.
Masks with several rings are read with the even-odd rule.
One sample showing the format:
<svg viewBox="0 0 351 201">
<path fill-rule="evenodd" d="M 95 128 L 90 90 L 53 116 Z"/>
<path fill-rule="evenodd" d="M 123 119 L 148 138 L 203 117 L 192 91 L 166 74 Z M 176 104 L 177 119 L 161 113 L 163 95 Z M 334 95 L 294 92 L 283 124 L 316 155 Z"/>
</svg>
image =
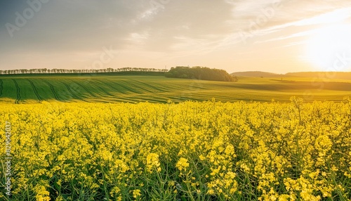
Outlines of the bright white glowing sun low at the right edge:
<svg viewBox="0 0 351 201">
<path fill-rule="evenodd" d="M 320 71 L 347 71 L 351 63 L 351 25 L 329 25 L 312 30 L 307 60 Z"/>
</svg>

